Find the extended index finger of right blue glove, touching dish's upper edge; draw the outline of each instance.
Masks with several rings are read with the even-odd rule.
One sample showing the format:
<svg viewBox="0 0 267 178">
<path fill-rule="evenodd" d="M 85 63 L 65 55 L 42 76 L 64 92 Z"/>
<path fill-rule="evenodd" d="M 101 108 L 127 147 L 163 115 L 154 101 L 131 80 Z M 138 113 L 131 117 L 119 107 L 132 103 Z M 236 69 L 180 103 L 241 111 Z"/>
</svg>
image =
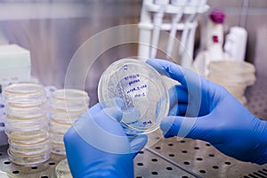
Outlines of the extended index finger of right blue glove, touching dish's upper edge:
<svg viewBox="0 0 267 178">
<path fill-rule="evenodd" d="M 180 82 L 184 86 L 188 85 L 198 85 L 199 76 L 190 69 L 182 68 L 179 65 L 174 64 L 171 61 L 150 59 L 146 61 L 154 69 L 157 69 L 158 72 L 166 77 L 171 77 L 174 80 Z"/>
</svg>

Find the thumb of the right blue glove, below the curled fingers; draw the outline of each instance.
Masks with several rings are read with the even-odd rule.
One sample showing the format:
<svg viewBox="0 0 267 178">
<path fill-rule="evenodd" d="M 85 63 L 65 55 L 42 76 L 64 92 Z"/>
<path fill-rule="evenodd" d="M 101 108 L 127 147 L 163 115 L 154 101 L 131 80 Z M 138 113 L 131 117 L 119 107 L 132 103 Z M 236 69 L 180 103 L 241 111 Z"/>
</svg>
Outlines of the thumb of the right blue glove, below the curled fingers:
<svg viewBox="0 0 267 178">
<path fill-rule="evenodd" d="M 160 129 L 164 137 L 173 136 L 210 141 L 210 130 L 204 117 L 165 117 Z"/>
</svg>

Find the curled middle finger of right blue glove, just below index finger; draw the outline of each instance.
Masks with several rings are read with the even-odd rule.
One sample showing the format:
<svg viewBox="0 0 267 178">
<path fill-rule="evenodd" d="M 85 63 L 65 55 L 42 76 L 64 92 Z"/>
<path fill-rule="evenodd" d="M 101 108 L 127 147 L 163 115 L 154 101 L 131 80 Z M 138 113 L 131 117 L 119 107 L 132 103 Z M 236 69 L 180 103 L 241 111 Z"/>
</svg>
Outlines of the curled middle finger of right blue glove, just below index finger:
<svg viewBox="0 0 267 178">
<path fill-rule="evenodd" d="M 188 92 L 183 85 L 174 85 L 169 89 L 170 108 L 177 102 L 188 102 Z"/>
</svg>

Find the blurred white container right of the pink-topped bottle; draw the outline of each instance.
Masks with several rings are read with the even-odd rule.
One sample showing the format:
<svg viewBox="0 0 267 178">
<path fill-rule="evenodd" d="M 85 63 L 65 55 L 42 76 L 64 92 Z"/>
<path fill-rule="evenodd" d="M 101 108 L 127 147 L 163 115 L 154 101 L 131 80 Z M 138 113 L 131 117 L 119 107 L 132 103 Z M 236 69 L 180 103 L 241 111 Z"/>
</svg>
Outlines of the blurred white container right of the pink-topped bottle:
<svg viewBox="0 0 267 178">
<path fill-rule="evenodd" d="M 247 30 L 241 27 L 231 27 L 225 37 L 224 52 L 231 60 L 244 61 L 247 47 Z"/>
</svg>

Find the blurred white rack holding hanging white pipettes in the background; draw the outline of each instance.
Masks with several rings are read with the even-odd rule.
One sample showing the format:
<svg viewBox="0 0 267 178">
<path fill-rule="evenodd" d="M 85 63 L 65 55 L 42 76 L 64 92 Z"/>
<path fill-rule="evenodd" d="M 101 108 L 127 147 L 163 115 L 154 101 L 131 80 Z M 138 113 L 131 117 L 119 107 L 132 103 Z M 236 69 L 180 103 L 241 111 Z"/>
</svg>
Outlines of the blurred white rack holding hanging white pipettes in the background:
<svg viewBox="0 0 267 178">
<path fill-rule="evenodd" d="M 142 3 L 141 20 L 139 23 L 139 51 L 138 56 L 141 59 L 155 58 L 157 55 L 156 47 L 158 46 L 159 30 L 171 31 L 172 37 L 175 37 L 175 31 L 182 31 L 182 46 L 185 50 L 180 50 L 182 56 L 181 64 L 184 67 L 190 67 L 192 63 L 192 54 L 194 46 L 195 30 L 198 26 L 196 16 L 198 13 L 206 12 L 209 6 L 206 0 L 178 0 L 168 2 L 164 1 L 158 4 L 159 1 L 144 0 Z M 166 4 L 167 3 L 167 4 Z M 171 14 L 173 20 L 171 22 L 164 21 L 164 14 Z M 153 16 L 153 14 L 155 14 Z M 181 21 L 182 16 L 188 16 L 186 20 Z M 154 19 L 153 19 L 154 18 Z M 173 51 L 173 39 L 168 44 L 166 49 L 167 54 Z M 179 49 L 176 49 L 177 53 Z M 186 54 L 185 54 L 186 53 Z M 190 55 L 190 59 L 188 56 Z"/>
</svg>

